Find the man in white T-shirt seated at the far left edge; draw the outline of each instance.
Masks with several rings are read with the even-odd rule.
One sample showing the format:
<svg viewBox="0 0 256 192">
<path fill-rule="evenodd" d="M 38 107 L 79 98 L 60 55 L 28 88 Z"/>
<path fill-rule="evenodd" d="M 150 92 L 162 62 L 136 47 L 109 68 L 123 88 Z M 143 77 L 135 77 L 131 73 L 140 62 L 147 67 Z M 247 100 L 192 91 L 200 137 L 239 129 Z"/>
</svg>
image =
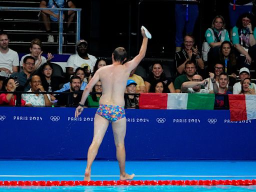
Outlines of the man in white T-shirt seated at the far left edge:
<svg viewBox="0 0 256 192">
<path fill-rule="evenodd" d="M 9 38 L 6 32 L 0 31 L 0 89 L 7 74 L 18 72 L 18 53 L 9 47 Z"/>
</svg>

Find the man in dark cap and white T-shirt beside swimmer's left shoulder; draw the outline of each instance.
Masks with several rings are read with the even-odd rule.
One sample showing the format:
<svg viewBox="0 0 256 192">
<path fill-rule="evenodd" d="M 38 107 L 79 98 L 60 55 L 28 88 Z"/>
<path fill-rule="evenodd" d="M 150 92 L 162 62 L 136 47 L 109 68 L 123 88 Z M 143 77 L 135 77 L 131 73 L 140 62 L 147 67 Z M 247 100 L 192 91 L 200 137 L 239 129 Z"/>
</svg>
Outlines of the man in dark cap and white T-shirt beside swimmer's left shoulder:
<svg viewBox="0 0 256 192">
<path fill-rule="evenodd" d="M 93 66 L 95 65 L 97 58 L 87 53 L 87 41 L 81 39 L 76 44 L 77 53 L 70 55 L 67 60 L 66 72 L 69 75 L 73 75 L 77 67 L 85 67 L 86 76 L 89 76 L 93 72 Z"/>
</svg>

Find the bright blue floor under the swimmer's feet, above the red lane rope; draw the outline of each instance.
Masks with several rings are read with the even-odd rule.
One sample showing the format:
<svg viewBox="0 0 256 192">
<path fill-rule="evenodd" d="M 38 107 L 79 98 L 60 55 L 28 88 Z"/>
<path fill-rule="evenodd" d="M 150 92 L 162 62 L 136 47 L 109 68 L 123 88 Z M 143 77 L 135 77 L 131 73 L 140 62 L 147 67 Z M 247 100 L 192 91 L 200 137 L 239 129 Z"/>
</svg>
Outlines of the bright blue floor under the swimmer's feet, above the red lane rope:
<svg viewBox="0 0 256 192">
<path fill-rule="evenodd" d="M 0 180 L 83 180 L 85 160 L 0 160 Z M 256 161 L 126 161 L 134 180 L 255 179 Z M 96 160 L 92 180 L 118 180 L 117 161 Z"/>
</svg>

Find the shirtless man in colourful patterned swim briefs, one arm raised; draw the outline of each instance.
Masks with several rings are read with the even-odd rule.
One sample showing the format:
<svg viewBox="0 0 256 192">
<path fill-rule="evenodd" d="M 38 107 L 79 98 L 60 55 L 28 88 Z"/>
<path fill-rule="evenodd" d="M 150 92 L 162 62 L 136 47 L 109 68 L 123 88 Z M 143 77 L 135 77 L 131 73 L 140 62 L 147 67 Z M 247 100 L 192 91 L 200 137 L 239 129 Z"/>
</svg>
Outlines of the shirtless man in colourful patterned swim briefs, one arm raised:
<svg viewBox="0 0 256 192">
<path fill-rule="evenodd" d="M 145 56 L 147 41 L 144 29 L 141 29 L 143 41 L 139 50 L 132 60 L 122 64 L 126 59 L 126 51 L 123 47 L 117 47 L 112 53 L 112 64 L 102 66 L 93 75 L 82 93 L 79 106 L 75 110 L 75 117 L 81 114 L 84 102 L 89 91 L 99 80 L 102 83 L 102 95 L 99 99 L 99 107 L 94 117 L 93 139 L 87 153 L 87 166 L 84 180 L 90 180 L 91 165 L 98 152 L 109 122 L 111 122 L 116 158 L 119 163 L 120 180 L 132 179 L 134 174 L 125 172 L 125 147 L 124 136 L 126 133 L 126 118 L 124 111 L 124 91 L 130 71 L 135 68 Z M 109 113 L 110 111 L 110 113 Z"/>
</svg>

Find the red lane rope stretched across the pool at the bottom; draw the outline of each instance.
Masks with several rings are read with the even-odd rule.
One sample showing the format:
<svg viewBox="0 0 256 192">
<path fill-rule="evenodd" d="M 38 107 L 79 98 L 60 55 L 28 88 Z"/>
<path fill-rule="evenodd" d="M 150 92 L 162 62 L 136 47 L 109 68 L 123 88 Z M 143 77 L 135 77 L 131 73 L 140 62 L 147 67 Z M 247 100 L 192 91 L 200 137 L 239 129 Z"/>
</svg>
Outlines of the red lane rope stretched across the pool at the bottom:
<svg viewBox="0 0 256 192">
<path fill-rule="evenodd" d="M 256 185 L 256 179 L 239 180 L 4 180 L 0 186 L 75 186 L 75 185 Z"/>
</svg>

